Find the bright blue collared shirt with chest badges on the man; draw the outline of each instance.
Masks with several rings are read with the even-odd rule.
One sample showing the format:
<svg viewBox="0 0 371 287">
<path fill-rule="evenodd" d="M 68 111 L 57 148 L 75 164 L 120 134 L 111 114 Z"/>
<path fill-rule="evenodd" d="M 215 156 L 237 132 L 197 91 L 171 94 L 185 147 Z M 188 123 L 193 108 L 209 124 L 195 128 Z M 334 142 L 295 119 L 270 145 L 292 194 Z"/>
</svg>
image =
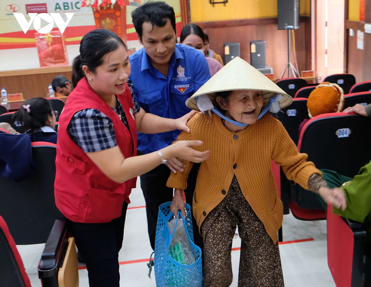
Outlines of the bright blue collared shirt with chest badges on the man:
<svg viewBox="0 0 371 287">
<path fill-rule="evenodd" d="M 168 77 L 152 66 L 144 48 L 129 57 L 134 94 L 139 105 L 160 117 L 177 119 L 190 111 L 185 100 L 210 79 L 205 56 L 194 48 L 176 44 L 170 58 Z M 138 133 L 138 150 L 144 153 L 167 147 L 180 130 L 159 134 Z"/>
</svg>

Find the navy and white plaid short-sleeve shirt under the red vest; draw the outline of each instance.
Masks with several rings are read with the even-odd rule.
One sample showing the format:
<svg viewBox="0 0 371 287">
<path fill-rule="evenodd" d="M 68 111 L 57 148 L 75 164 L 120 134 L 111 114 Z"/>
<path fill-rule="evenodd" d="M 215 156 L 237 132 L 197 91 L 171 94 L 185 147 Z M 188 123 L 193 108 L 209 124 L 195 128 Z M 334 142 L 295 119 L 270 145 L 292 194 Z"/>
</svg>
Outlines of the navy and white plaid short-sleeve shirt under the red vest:
<svg viewBox="0 0 371 287">
<path fill-rule="evenodd" d="M 140 107 L 135 100 L 133 84 L 128 80 L 129 90 L 133 98 L 134 113 L 138 114 Z M 129 129 L 124 109 L 117 99 L 117 108 L 112 109 L 120 116 L 121 121 Z M 84 109 L 75 113 L 68 124 L 67 132 L 74 143 L 85 153 L 106 150 L 117 146 L 112 120 L 97 109 Z"/>
</svg>

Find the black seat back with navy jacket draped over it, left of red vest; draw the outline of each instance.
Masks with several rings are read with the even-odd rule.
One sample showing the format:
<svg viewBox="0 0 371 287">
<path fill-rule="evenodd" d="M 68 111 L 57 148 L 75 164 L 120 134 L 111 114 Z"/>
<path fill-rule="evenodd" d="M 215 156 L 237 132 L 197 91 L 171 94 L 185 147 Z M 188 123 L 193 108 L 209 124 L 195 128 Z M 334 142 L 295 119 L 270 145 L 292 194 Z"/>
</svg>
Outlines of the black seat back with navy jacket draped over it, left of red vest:
<svg viewBox="0 0 371 287">
<path fill-rule="evenodd" d="M 0 214 L 16 244 L 45 243 L 62 214 L 55 206 L 56 144 L 32 143 L 35 172 L 21 182 L 0 177 Z"/>
</svg>

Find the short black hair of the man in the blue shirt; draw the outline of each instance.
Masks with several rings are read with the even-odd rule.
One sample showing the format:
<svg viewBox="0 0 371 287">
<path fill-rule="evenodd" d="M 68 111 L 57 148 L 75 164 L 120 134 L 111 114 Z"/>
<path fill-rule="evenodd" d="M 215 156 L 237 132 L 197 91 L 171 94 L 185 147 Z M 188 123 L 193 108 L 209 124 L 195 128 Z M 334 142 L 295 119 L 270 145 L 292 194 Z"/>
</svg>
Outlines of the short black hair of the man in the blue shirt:
<svg viewBox="0 0 371 287">
<path fill-rule="evenodd" d="M 142 40 L 142 27 L 144 22 L 150 22 L 152 27 L 164 27 L 167 23 L 167 19 L 169 19 L 175 34 L 177 33 L 174 9 L 163 1 L 144 3 L 131 12 L 131 18 L 140 40 Z"/>
</svg>

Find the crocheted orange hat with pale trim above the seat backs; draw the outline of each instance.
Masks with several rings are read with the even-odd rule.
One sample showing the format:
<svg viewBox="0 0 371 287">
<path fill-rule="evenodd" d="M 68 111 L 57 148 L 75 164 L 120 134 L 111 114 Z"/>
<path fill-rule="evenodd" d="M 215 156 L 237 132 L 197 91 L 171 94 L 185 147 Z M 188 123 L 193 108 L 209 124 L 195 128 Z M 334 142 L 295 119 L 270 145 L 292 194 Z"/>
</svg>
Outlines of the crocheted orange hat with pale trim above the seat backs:
<svg viewBox="0 0 371 287">
<path fill-rule="evenodd" d="M 339 113 L 344 107 L 344 91 L 338 84 L 319 84 L 308 97 L 306 103 L 309 117 L 319 114 Z"/>
</svg>

